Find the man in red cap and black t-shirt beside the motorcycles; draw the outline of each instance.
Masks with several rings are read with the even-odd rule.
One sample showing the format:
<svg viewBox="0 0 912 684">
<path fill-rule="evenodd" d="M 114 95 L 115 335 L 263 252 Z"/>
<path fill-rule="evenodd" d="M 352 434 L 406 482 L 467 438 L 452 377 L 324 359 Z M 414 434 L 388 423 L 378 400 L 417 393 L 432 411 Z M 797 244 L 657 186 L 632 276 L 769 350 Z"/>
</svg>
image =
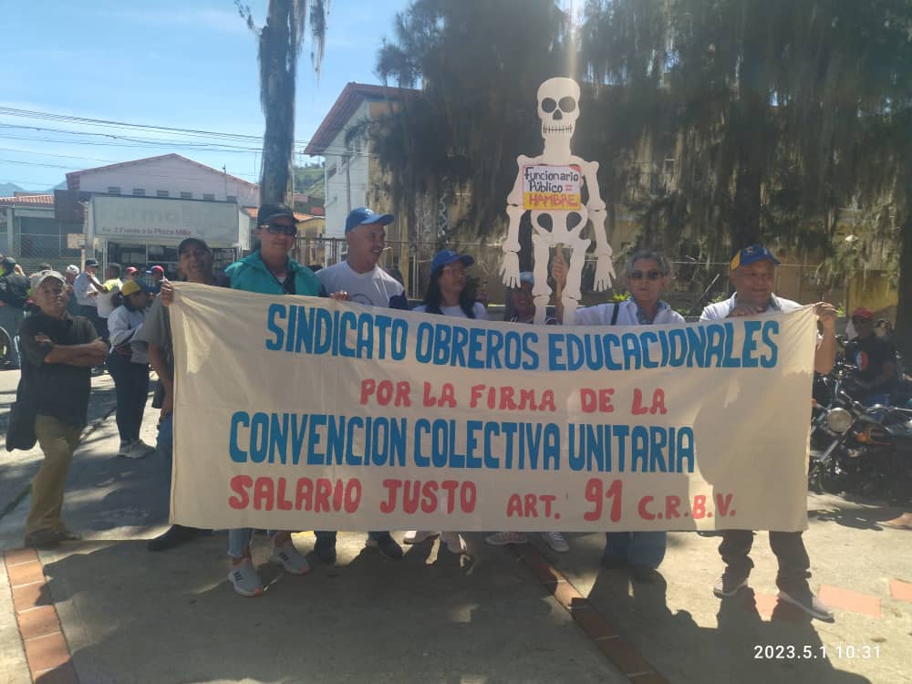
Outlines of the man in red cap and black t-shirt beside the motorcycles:
<svg viewBox="0 0 912 684">
<path fill-rule="evenodd" d="M 845 358 L 858 367 L 857 384 L 865 390 L 865 406 L 888 404 L 896 384 L 896 347 L 874 333 L 874 314 L 864 306 L 852 312 L 857 336 L 845 345 Z"/>
</svg>

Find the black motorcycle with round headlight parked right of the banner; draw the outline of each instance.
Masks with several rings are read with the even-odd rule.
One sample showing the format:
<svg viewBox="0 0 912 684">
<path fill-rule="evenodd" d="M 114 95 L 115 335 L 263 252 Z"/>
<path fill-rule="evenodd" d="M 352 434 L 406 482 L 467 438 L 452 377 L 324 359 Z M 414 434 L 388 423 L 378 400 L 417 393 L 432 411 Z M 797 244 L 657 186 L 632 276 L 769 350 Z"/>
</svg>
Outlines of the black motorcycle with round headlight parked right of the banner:
<svg viewBox="0 0 912 684">
<path fill-rule="evenodd" d="M 912 494 L 912 410 L 865 407 L 846 388 L 854 367 L 839 362 L 814 385 L 808 486 L 903 504 Z"/>
</svg>

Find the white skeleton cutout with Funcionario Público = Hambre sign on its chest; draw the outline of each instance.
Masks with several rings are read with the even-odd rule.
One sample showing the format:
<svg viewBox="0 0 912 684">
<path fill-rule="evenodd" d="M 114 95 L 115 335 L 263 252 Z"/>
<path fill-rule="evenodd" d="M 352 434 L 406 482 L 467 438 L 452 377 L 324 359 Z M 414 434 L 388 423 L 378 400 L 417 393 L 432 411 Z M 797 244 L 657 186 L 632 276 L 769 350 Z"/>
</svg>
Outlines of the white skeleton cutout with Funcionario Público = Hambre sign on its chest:
<svg viewBox="0 0 912 684">
<path fill-rule="evenodd" d="M 573 325 L 576 307 L 582 296 L 580 285 L 586 249 L 592 242 L 582 236 L 589 221 L 592 221 L 596 238 L 596 291 L 609 288 L 615 277 L 611 245 L 605 232 L 605 202 L 598 192 L 598 162 L 586 161 L 570 151 L 570 140 L 579 118 L 579 94 L 579 84 L 572 78 L 549 78 L 538 88 L 538 118 L 542 119 L 544 151 L 538 157 L 520 155 L 516 158 L 519 171 L 513 191 L 507 196 L 510 223 L 507 239 L 503 243 L 503 285 L 519 286 L 519 225 L 523 214 L 531 211 L 535 276 L 532 295 L 536 324 L 544 324 L 545 308 L 551 298 L 551 287 L 548 286 L 551 248 L 567 245 L 570 248 L 570 264 L 561 301 L 564 304 L 564 323 Z M 553 173 L 548 171 L 552 167 Z M 540 179 L 570 177 L 571 185 L 562 185 L 563 181 L 556 181 L 554 186 L 548 181 L 530 181 L 536 172 Z M 589 195 L 585 205 L 579 201 L 583 183 Z M 529 192 L 530 184 L 544 187 L 545 191 Z M 554 188 L 559 190 L 554 192 Z M 535 209 L 534 206 L 540 202 L 544 202 L 545 208 Z"/>
</svg>

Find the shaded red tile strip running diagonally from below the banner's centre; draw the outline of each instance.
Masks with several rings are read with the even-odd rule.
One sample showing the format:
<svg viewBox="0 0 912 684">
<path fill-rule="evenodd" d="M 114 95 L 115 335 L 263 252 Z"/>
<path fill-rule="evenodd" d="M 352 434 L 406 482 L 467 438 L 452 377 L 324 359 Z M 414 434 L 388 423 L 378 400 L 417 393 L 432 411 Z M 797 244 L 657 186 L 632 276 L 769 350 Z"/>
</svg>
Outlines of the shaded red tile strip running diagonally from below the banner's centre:
<svg viewBox="0 0 912 684">
<path fill-rule="evenodd" d="M 554 599 L 573 617 L 586 636 L 633 684 L 668 684 L 667 679 L 643 658 L 637 648 L 617 634 L 617 629 L 599 613 L 554 565 L 533 546 L 510 546 L 523 564 L 554 595 Z"/>
</svg>

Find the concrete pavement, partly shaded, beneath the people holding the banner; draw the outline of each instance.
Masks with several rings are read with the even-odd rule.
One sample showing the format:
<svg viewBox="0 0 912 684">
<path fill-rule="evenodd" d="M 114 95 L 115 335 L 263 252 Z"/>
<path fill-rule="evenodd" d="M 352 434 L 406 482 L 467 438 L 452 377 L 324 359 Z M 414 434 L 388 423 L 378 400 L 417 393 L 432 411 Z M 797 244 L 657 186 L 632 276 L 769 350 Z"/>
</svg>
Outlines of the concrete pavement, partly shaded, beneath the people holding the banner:
<svg viewBox="0 0 912 684">
<path fill-rule="evenodd" d="M 149 410 L 142 438 L 150 443 L 156 419 Z M 146 550 L 167 517 L 168 483 L 159 456 L 117 459 L 117 445 L 111 416 L 74 461 L 65 514 L 86 541 L 41 552 L 41 565 L 7 554 L 0 681 L 31 681 L 30 661 L 47 670 L 40 681 L 83 684 L 912 681 L 912 536 L 876 525 L 893 517 L 889 509 L 808 499 L 812 586 L 833 602 L 834 624 L 775 605 L 765 534 L 752 554 L 751 590 L 725 601 L 710 590 L 719 540 L 693 533 L 670 535 L 665 581 L 650 586 L 600 568 L 601 534 L 569 534 L 564 555 L 538 540 L 534 549 L 503 549 L 468 534 L 471 557 L 438 554 L 426 542 L 405 547 L 401 562 L 364 548 L 364 534 L 340 534 L 337 565 L 310 555 L 304 577 L 266 563 L 259 537 L 254 560 L 268 590 L 245 599 L 226 579 L 223 533 Z M 0 547 L 21 544 L 27 504 L 0 519 Z M 295 544 L 310 553 L 313 534 L 296 534 Z M 35 602 L 33 616 L 55 606 L 60 626 L 34 627 L 14 594 Z M 47 634 L 36 639 L 41 629 Z M 71 659 L 42 668 L 56 662 L 54 643 Z M 47 644 L 44 660 L 36 644 Z M 815 658 L 796 657 L 804 654 Z M 658 674 L 634 668 L 644 662 Z"/>
</svg>

